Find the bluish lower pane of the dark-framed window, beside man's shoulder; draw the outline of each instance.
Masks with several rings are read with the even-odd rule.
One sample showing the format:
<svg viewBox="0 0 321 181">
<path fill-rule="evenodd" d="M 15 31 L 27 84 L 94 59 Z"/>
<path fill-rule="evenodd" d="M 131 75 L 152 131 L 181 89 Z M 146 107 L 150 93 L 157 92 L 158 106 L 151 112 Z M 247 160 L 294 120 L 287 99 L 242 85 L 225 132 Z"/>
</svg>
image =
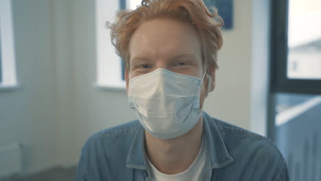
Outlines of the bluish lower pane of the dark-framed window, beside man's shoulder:
<svg viewBox="0 0 321 181">
<path fill-rule="evenodd" d="M 321 180 L 321 95 L 277 93 L 274 139 L 291 180 Z"/>
</svg>

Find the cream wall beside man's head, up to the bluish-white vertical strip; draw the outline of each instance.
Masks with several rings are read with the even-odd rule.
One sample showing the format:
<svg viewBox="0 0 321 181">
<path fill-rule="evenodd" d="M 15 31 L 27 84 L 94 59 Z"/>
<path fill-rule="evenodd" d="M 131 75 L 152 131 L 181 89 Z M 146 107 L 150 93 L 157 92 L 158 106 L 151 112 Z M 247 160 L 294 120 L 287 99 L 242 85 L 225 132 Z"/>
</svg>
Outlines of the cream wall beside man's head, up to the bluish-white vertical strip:
<svg viewBox="0 0 321 181">
<path fill-rule="evenodd" d="M 205 101 L 211 116 L 250 129 L 252 0 L 234 1 L 234 27 L 224 32 L 215 90 Z"/>
</svg>

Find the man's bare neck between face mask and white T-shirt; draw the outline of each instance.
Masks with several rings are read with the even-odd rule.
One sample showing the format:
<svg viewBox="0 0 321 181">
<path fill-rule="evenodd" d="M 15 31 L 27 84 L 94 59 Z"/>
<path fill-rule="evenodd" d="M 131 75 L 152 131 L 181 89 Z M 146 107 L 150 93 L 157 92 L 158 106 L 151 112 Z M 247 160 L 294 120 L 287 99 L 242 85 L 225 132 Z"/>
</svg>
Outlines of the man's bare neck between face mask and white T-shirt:
<svg viewBox="0 0 321 181">
<path fill-rule="evenodd" d="M 168 140 L 155 138 L 145 131 L 146 153 L 158 171 L 176 174 L 185 171 L 198 156 L 202 144 L 203 120 L 189 132 Z"/>
</svg>

